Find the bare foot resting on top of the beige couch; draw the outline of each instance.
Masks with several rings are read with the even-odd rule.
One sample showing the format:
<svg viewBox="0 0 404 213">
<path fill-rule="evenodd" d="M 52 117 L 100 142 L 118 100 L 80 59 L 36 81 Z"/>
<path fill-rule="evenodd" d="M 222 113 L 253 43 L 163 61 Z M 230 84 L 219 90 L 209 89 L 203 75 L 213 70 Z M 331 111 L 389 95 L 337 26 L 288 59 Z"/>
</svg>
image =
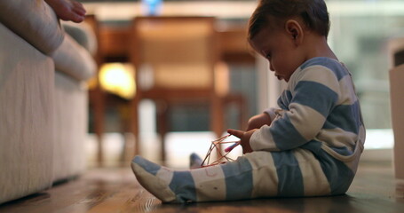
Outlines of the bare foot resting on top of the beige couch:
<svg viewBox="0 0 404 213">
<path fill-rule="evenodd" d="M 45 0 L 58 15 L 60 20 L 71 20 L 75 23 L 82 22 L 85 16 L 83 4 L 75 0 Z"/>
</svg>

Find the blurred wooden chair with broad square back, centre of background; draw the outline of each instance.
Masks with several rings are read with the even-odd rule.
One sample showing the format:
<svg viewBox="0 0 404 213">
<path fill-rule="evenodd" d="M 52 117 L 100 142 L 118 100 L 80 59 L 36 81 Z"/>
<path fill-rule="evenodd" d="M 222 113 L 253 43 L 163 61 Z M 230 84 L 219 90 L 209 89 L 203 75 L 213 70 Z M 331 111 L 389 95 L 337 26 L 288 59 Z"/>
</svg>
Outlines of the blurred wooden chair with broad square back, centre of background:
<svg viewBox="0 0 404 213">
<path fill-rule="evenodd" d="M 184 102 L 208 103 L 210 130 L 217 136 L 224 132 L 225 102 L 237 100 L 242 113 L 246 111 L 240 96 L 229 95 L 226 88 L 219 90 L 226 79 L 218 78 L 220 72 L 215 69 L 219 62 L 215 20 L 213 17 L 137 17 L 132 21 L 130 59 L 136 67 L 137 91 L 132 99 L 131 128 L 137 138 L 138 154 L 138 106 L 142 99 L 153 99 L 157 106 L 162 161 L 171 106 Z"/>
</svg>

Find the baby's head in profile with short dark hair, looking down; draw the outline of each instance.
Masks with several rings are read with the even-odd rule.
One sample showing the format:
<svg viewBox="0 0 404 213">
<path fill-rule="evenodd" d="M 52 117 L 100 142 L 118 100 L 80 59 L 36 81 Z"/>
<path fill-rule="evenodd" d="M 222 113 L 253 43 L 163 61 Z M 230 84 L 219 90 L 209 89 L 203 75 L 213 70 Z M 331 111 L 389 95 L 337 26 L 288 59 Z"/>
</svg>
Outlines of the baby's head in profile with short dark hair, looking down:
<svg viewBox="0 0 404 213">
<path fill-rule="evenodd" d="M 288 82 L 305 60 L 328 53 L 321 48 L 328 35 L 323 0 L 261 0 L 250 18 L 248 40 L 275 76 Z"/>
</svg>

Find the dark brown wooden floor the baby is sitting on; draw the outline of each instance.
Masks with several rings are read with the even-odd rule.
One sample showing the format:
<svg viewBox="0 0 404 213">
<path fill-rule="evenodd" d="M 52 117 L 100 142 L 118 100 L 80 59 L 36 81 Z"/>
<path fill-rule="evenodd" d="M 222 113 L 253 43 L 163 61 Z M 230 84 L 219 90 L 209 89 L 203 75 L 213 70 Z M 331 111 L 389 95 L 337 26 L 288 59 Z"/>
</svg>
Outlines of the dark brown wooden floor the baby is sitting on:
<svg viewBox="0 0 404 213">
<path fill-rule="evenodd" d="M 320 198 L 258 199 L 186 205 L 162 204 L 129 168 L 88 171 L 67 183 L 0 206 L 0 212 L 404 212 L 404 183 L 392 166 L 361 163 L 348 193 Z"/>
</svg>

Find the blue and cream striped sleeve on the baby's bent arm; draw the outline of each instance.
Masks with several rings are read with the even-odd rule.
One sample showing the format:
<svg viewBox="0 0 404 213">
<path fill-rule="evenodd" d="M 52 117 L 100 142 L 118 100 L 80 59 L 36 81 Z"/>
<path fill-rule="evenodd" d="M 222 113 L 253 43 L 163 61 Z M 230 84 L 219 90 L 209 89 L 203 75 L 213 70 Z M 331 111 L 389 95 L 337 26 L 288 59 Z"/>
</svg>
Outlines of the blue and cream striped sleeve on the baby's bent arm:
<svg viewBox="0 0 404 213">
<path fill-rule="evenodd" d="M 250 138 L 253 150 L 281 151 L 303 146 L 321 130 L 340 94 L 337 76 L 322 66 L 297 70 L 289 81 L 289 95 L 281 102 L 288 108 L 278 113 L 270 126 L 263 126 Z M 283 98 L 282 98 L 283 97 Z M 288 99 L 289 98 L 289 99 Z"/>
</svg>

